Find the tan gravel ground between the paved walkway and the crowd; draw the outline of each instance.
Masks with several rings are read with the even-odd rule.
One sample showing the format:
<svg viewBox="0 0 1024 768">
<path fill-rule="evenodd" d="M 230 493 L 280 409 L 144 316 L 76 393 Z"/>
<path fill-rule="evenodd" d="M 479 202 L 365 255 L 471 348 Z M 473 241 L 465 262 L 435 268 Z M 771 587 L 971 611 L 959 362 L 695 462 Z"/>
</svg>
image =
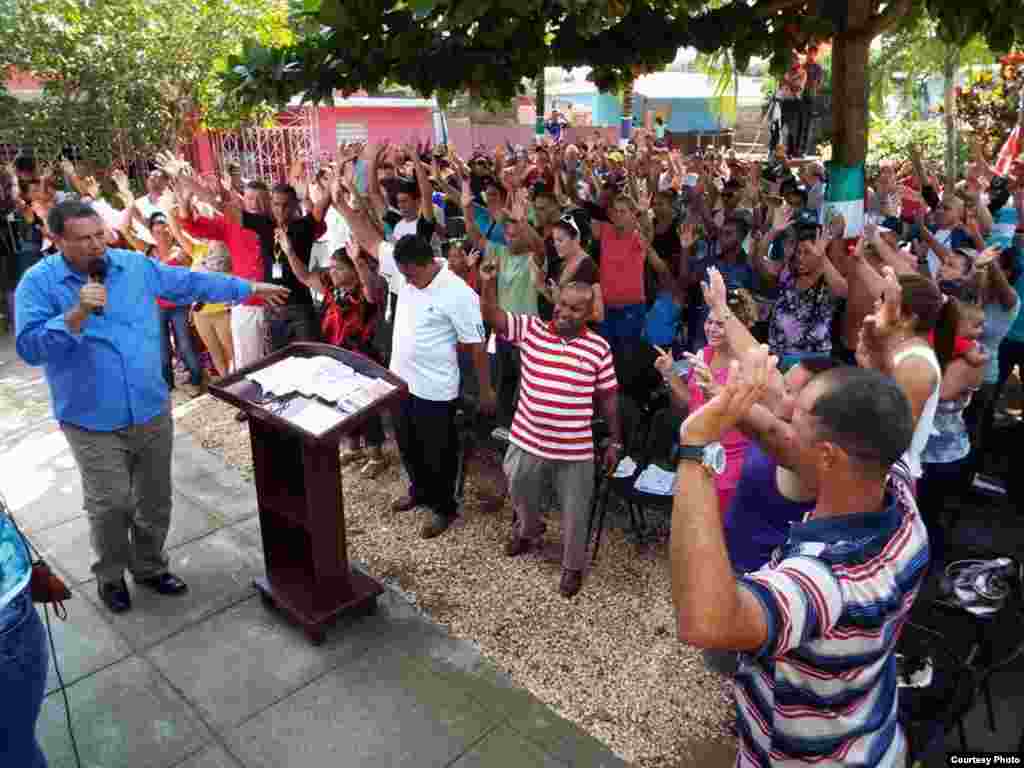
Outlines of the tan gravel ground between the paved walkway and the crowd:
<svg viewBox="0 0 1024 768">
<path fill-rule="evenodd" d="M 234 410 L 188 395 L 174 395 L 177 428 L 252 477 L 249 430 Z M 641 551 L 622 530 L 607 530 L 583 591 L 565 600 L 557 515 L 548 516 L 537 551 L 502 552 L 512 513 L 497 456 L 474 458 L 462 517 L 430 542 L 419 538 L 427 512 L 388 508 L 406 489 L 393 442 L 388 456 L 390 467 L 373 480 L 357 466 L 344 470 L 352 558 L 636 766 L 676 766 L 701 752 L 698 744 L 732 739 L 723 679 L 676 639 L 666 541 Z"/>
</svg>

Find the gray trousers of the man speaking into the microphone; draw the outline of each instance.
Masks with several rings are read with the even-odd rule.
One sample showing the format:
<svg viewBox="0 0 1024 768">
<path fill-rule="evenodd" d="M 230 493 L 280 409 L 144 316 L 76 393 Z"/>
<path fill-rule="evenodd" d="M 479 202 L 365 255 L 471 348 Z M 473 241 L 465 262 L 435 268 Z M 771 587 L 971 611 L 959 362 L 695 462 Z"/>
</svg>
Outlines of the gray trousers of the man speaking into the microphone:
<svg viewBox="0 0 1024 768">
<path fill-rule="evenodd" d="M 89 535 L 101 584 L 130 570 L 136 579 L 167 570 L 164 542 L 171 524 L 169 414 L 114 432 L 91 432 L 61 424 L 82 474 Z"/>
</svg>

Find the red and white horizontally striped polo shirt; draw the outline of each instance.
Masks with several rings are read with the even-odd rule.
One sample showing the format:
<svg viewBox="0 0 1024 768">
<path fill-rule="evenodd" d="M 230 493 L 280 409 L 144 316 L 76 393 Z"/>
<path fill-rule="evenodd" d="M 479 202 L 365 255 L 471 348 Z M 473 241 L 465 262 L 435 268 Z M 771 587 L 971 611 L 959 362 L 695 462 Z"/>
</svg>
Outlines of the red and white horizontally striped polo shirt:
<svg viewBox="0 0 1024 768">
<path fill-rule="evenodd" d="M 519 347 L 519 406 L 510 441 L 545 459 L 594 458 L 594 394 L 614 391 L 608 342 L 589 329 L 563 339 L 540 317 L 506 312 L 508 340 Z"/>
</svg>

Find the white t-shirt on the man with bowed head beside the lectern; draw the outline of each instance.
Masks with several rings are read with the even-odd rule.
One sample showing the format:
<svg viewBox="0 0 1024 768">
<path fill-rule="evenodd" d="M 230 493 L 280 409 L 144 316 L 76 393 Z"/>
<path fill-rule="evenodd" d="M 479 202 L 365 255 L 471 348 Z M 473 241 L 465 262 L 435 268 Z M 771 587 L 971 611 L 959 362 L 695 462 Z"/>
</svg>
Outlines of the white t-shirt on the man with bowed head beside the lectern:
<svg viewBox="0 0 1024 768">
<path fill-rule="evenodd" d="M 394 314 L 391 372 L 413 395 L 441 402 L 458 397 L 456 344 L 482 342 L 480 299 L 455 272 L 442 267 L 422 291 L 404 283 Z"/>
</svg>

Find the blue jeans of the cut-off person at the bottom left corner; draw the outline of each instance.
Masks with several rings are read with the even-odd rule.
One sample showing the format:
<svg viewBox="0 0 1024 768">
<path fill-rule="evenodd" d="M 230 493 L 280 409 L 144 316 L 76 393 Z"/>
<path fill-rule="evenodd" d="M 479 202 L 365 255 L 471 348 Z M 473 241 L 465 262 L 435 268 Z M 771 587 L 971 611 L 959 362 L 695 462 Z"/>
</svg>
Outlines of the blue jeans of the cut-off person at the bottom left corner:
<svg viewBox="0 0 1024 768">
<path fill-rule="evenodd" d="M 46 630 L 26 588 L 0 608 L 0 765 L 46 768 L 36 721 L 48 666 Z"/>
</svg>

